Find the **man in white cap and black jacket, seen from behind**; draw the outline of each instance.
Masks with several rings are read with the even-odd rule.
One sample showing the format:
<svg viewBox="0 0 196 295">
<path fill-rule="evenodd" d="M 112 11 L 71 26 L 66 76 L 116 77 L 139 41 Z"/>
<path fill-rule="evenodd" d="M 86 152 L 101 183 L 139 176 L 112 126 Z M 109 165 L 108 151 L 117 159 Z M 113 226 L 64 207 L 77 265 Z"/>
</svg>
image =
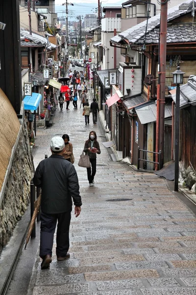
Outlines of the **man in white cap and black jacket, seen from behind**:
<svg viewBox="0 0 196 295">
<path fill-rule="evenodd" d="M 52 261 L 53 237 L 57 220 L 57 261 L 70 257 L 68 250 L 72 198 L 75 217 L 80 214 L 82 205 L 77 173 L 74 166 L 63 157 L 64 140 L 60 136 L 53 137 L 50 150 L 52 155 L 39 163 L 33 177 L 35 186 L 42 189 L 40 233 L 42 269 L 48 268 Z"/>
</svg>

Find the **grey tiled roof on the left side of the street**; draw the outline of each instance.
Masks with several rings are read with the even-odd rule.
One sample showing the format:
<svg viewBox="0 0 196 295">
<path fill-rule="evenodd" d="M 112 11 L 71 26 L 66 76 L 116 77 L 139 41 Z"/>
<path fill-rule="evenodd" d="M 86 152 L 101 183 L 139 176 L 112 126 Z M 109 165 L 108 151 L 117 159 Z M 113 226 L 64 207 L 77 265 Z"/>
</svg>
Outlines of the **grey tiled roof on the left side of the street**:
<svg viewBox="0 0 196 295">
<path fill-rule="evenodd" d="M 45 47 L 47 50 L 54 50 L 57 48 L 56 45 L 50 43 L 44 36 L 32 33 L 26 29 L 21 29 L 21 46 L 23 47 Z"/>
</svg>

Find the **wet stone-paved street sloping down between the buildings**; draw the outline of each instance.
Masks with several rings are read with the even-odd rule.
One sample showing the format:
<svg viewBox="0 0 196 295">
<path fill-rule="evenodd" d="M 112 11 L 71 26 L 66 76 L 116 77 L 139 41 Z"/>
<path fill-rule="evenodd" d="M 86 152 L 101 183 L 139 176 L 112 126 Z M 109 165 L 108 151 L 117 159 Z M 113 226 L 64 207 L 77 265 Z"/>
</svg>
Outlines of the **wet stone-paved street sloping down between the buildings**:
<svg viewBox="0 0 196 295">
<path fill-rule="evenodd" d="M 52 136 L 70 135 L 83 206 L 72 217 L 71 258 L 57 262 L 54 243 L 50 269 L 41 270 L 37 259 L 28 295 L 196 295 L 194 213 L 164 179 L 112 162 L 100 125 L 90 118 L 86 127 L 82 109 L 70 104 L 57 110 L 53 127 L 37 131 L 35 166 L 50 154 Z M 91 130 L 101 148 L 94 187 L 77 166 Z"/>
</svg>

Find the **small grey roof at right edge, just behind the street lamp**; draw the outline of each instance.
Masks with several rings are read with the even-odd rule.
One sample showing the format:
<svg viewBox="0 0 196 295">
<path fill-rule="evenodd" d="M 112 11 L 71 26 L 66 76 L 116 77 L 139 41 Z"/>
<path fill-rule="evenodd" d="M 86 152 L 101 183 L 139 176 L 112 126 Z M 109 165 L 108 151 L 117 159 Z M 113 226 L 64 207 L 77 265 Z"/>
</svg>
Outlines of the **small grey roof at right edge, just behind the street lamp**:
<svg viewBox="0 0 196 295">
<path fill-rule="evenodd" d="M 172 99 L 176 101 L 176 93 L 172 94 Z M 180 107 L 190 104 L 196 105 L 196 76 L 189 78 L 188 82 L 180 86 Z"/>
</svg>

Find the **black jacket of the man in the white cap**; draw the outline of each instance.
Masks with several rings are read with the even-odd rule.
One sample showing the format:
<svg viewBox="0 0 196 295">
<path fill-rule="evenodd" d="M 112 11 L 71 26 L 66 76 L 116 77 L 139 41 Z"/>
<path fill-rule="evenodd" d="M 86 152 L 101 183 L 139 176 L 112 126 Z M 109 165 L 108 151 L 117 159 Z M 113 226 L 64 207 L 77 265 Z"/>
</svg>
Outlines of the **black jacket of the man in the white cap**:
<svg viewBox="0 0 196 295">
<path fill-rule="evenodd" d="M 74 166 L 61 155 L 52 154 L 41 161 L 35 171 L 33 183 L 42 188 L 41 208 L 44 213 L 56 214 L 81 206 L 79 184 Z"/>
</svg>

